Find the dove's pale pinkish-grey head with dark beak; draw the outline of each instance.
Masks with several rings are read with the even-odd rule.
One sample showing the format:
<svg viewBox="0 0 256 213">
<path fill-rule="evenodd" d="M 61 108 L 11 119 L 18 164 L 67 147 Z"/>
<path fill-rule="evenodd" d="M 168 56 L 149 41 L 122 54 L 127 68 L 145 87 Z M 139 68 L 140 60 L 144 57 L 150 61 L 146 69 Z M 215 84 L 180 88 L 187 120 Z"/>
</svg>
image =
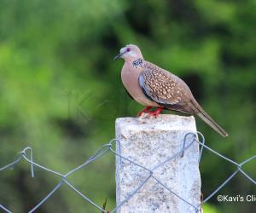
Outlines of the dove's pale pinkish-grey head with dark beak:
<svg viewBox="0 0 256 213">
<path fill-rule="evenodd" d="M 124 60 L 143 59 L 141 50 L 134 44 L 128 44 L 120 49 L 119 55 L 116 55 L 113 60 L 123 58 Z"/>
</svg>

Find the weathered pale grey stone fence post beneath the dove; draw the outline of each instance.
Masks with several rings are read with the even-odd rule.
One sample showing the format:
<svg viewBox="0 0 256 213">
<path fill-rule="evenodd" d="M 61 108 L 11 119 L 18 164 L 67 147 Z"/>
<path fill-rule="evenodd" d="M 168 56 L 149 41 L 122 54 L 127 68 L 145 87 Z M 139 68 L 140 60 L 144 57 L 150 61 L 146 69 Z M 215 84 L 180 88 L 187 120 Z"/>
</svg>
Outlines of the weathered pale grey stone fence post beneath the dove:
<svg viewBox="0 0 256 213">
<path fill-rule="evenodd" d="M 117 152 L 148 169 L 165 161 L 183 147 L 184 135 L 196 132 L 195 118 L 177 115 L 160 115 L 158 118 L 118 118 Z M 192 137 L 188 138 L 191 140 Z M 189 141 L 190 141 L 189 140 Z M 194 143 L 184 153 L 154 170 L 162 183 L 195 206 L 200 204 L 201 176 L 198 168 L 199 146 Z M 119 205 L 134 191 L 149 173 L 137 165 L 116 157 L 116 195 Z M 152 177 L 125 204 L 120 213 L 195 212 L 189 204 L 161 187 Z"/>
</svg>

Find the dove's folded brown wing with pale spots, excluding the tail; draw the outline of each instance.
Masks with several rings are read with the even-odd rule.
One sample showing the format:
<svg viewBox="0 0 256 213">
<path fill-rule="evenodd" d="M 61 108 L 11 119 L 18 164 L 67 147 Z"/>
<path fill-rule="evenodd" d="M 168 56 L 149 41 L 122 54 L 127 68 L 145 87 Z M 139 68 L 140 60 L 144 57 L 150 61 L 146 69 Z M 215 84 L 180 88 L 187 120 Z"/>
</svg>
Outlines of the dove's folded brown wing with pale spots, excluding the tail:
<svg viewBox="0 0 256 213">
<path fill-rule="evenodd" d="M 190 101 L 190 89 L 182 79 L 148 61 L 143 64 L 139 85 L 149 99 L 164 107 L 182 107 Z"/>
</svg>

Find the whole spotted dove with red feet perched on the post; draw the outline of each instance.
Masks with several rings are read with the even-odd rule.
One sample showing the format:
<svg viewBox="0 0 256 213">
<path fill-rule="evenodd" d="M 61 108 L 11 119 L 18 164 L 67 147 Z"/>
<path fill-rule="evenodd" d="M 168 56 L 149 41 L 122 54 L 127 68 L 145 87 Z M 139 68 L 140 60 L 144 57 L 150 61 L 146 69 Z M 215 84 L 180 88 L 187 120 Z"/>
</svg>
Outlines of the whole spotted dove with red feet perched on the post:
<svg viewBox="0 0 256 213">
<path fill-rule="evenodd" d="M 131 97 L 146 106 L 143 112 L 155 117 L 163 110 L 173 110 L 198 115 L 220 135 L 228 136 L 202 107 L 195 101 L 188 85 L 171 72 L 143 60 L 141 50 L 133 44 L 120 49 L 119 55 L 114 59 L 123 58 L 125 64 L 122 68 L 121 78 L 125 89 Z M 157 107 L 151 112 L 151 107 Z"/>
</svg>

